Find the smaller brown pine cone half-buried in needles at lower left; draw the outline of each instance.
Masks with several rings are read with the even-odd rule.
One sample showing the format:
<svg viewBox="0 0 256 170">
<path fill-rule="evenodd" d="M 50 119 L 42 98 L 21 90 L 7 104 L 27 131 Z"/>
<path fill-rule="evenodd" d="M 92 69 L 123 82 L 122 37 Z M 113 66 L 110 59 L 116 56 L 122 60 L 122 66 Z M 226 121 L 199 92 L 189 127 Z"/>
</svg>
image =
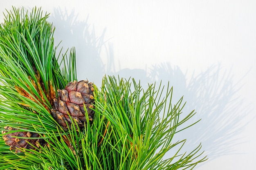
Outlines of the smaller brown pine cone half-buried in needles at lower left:
<svg viewBox="0 0 256 170">
<path fill-rule="evenodd" d="M 5 131 L 6 130 L 6 131 Z M 16 128 L 11 128 L 10 126 L 5 126 L 4 130 L 2 130 L 2 134 L 5 134 L 11 130 L 18 130 Z M 30 139 L 22 139 L 18 137 L 28 137 Z M 25 149 L 36 149 L 34 146 L 38 147 L 38 143 L 42 144 L 43 139 L 33 139 L 35 137 L 39 137 L 38 133 L 33 133 L 33 132 L 13 132 L 13 133 L 8 133 L 6 135 L 3 135 L 3 139 L 5 144 L 10 146 L 10 150 L 15 150 L 15 152 L 21 152 L 22 148 Z M 30 144 L 31 145 L 30 145 Z M 33 146 L 32 146 L 33 145 Z"/>
</svg>

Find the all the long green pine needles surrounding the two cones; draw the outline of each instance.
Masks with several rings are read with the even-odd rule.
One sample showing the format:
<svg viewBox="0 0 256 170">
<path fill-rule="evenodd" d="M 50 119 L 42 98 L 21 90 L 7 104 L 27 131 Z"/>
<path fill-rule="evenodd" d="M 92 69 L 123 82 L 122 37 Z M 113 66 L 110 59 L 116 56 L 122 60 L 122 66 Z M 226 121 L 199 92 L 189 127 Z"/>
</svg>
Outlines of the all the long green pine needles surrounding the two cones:
<svg viewBox="0 0 256 170">
<path fill-rule="evenodd" d="M 30 13 L 13 7 L 0 26 L 0 129 L 43 140 L 16 153 L 0 135 L 0 169 L 185 170 L 206 160 L 201 144 L 183 153 L 186 139 L 174 140 L 198 121 L 188 123 L 194 110 L 183 116 L 182 98 L 173 104 L 169 84 L 144 89 L 134 79 L 103 77 L 101 88 L 94 86 L 93 123 L 80 129 L 73 121 L 63 130 L 49 111 L 49 96 L 51 88 L 56 93 L 76 80 L 75 49 L 56 56 L 48 16 L 36 7 Z"/>
</svg>

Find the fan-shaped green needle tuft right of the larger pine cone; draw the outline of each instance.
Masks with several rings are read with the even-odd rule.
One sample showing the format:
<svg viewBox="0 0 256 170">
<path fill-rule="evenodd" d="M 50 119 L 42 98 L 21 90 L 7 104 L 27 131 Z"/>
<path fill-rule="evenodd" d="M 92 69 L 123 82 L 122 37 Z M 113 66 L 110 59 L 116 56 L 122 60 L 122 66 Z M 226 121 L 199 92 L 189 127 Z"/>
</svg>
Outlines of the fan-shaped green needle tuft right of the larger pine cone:
<svg viewBox="0 0 256 170">
<path fill-rule="evenodd" d="M 176 164 L 181 164 L 179 167 L 192 167 L 205 160 L 204 157 L 195 161 L 196 154 L 201 155 L 198 153 L 200 147 L 187 155 L 179 156 L 178 151 L 173 157 L 163 160 L 169 150 L 182 148 L 186 140 L 174 142 L 173 136 L 177 128 L 194 114 L 192 111 L 179 120 L 184 107 L 182 99 L 172 105 L 173 89 L 168 86 L 164 96 L 163 91 L 161 86 L 155 89 L 155 84 L 144 90 L 134 79 L 130 83 L 115 77 L 103 78 L 101 92 L 96 91 L 95 106 L 100 108 L 101 114 L 110 121 L 115 132 L 112 140 L 121 140 L 119 146 L 115 146 L 121 152 L 112 153 L 113 157 L 119 157 L 117 169 L 162 170 L 170 169 Z M 173 162 L 177 157 L 180 159 Z"/>
</svg>

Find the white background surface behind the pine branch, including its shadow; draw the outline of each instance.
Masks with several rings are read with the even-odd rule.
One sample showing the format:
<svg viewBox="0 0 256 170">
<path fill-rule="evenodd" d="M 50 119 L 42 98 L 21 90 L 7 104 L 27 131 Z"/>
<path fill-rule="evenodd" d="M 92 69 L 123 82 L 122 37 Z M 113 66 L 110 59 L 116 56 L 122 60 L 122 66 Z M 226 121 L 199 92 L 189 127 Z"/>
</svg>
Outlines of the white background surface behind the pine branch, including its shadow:
<svg viewBox="0 0 256 170">
<path fill-rule="evenodd" d="M 12 5 L 51 13 L 56 44 L 76 48 L 79 79 L 170 81 L 184 113 L 202 118 L 177 135 L 186 150 L 202 142 L 209 159 L 195 170 L 255 169 L 255 0 L 1 0 L 1 22 Z"/>
</svg>

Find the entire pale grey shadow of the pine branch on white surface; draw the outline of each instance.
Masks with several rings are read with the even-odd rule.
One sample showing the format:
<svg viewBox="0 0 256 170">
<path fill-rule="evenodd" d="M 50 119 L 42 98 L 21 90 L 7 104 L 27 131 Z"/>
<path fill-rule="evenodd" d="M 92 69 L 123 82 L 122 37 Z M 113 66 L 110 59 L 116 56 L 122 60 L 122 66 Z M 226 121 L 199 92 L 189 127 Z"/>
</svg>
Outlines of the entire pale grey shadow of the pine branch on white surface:
<svg viewBox="0 0 256 170">
<path fill-rule="evenodd" d="M 210 160 L 236 153 L 234 146 L 240 142 L 236 138 L 246 126 L 243 114 L 249 110 L 240 108 L 243 100 L 237 96 L 239 86 L 233 82 L 230 72 L 225 73 L 220 64 L 213 65 L 188 80 L 178 66 L 173 67 L 170 63 L 150 66 L 148 72 L 144 69 L 120 70 L 119 65 L 115 64 L 113 45 L 104 41 L 106 29 L 97 37 L 87 20 L 79 21 L 76 18 L 74 11 L 68 13 L 58 8 L 54 10 L 51 20 L 56 25 L 56 41 L 63 40 L 64 49 L 76 47 L 79 79 L 86 77 L 97 86 L 101 85 L 104 74 L 134 77 L 144 87 L 147 83 L 162 80 L 163 84 L 167 84 L 169 81 L 174 88 L 173 100 L 177 101 L 184 95 L 184 116 L 193 109 L 197 112 L 188 123 L 202 119 L 191 128 L 177 133 L 174 140 L 187 139 L 181 153 L 193 150 L 200 142 L 202 150 L 205 150 L 204 155 L 208 155 Z M 102 51 L 107 54 L 106 62 L 102 60 Z"/>
</svg>

